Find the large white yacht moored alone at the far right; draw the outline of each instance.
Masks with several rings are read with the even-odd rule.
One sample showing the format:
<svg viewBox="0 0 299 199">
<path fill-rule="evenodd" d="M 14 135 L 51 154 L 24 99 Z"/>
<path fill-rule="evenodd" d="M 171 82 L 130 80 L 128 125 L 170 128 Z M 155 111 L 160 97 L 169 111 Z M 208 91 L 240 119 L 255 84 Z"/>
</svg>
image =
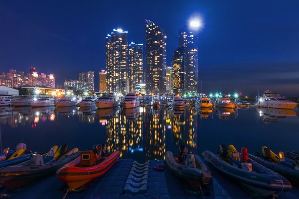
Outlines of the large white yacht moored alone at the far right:
<svg viewBox="0 0 299 199">
<path fill-rule="evenodd" d="M 297 106 L 297 103 L 281 97 L 279 93 L 265 91 L 257 105 L 267 108 L 293 109 Z"/>
</svg>

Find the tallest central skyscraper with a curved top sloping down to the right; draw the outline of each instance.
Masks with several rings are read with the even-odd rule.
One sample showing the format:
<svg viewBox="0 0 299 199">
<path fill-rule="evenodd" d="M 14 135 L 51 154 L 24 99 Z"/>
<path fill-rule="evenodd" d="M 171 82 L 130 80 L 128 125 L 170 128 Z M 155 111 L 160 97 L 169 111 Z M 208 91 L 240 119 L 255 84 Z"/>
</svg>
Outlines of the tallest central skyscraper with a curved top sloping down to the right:
<svg viewBox="0 0 299 199">
<path fill-rule="evenodd" d="M 146 84 L 148 93 L 165 93 L 165 73 L 166 35 L 159 26 L 146 19 Z"/>
</svg>

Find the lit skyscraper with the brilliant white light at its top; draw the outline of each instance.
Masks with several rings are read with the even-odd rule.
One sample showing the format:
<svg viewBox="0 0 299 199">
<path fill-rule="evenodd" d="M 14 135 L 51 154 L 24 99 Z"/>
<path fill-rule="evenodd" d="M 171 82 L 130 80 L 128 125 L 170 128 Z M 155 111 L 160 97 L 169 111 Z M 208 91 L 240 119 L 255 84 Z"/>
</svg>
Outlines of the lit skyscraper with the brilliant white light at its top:
<svg viewBox="0 0 299 199">
<path fill-rule="evenodd" d="M 198 35 L 196 30 L 184 26 L 178 31 L 178 46 L 184 47 L 185 92 L 197 93 L 198 84 Z"/>
</svg>

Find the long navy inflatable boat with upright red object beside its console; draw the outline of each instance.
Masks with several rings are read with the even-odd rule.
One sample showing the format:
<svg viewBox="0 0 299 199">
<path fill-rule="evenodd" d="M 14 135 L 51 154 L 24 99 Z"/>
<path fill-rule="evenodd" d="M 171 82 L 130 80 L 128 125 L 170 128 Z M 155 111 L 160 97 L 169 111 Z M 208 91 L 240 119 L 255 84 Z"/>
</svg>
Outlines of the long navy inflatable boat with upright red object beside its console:
<svg viewBox="0 0 299 199">
<path fill-rule="evenodd" d="M 286 178 L 248 158 L 245 147 L 241 150 L 241 158 L 233 145 L 229 145 L 227 150 L 224 144 L 220 145 L 219 155 L 208 150 L 202 155 L 217 170 L 255 194 L 268 197 L 292 189 L 291 183 Z"/>
</svg>

